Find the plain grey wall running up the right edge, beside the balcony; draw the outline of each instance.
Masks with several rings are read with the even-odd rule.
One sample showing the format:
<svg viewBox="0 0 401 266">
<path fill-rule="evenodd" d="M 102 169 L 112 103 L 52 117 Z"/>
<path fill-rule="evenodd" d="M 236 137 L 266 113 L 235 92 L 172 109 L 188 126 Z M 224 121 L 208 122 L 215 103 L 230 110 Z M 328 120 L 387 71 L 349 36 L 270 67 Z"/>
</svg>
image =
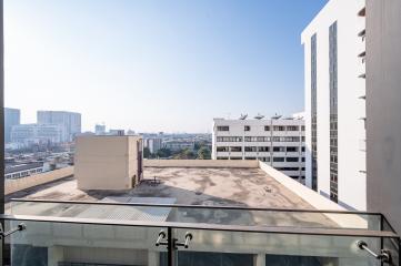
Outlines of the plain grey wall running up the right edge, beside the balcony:
<svg viewBox="0 0 401 266">
<path fill-rule="evenodd" d="M 367 1 L 368 209 L 401 233 L 401 1 Z"/>
</svg>

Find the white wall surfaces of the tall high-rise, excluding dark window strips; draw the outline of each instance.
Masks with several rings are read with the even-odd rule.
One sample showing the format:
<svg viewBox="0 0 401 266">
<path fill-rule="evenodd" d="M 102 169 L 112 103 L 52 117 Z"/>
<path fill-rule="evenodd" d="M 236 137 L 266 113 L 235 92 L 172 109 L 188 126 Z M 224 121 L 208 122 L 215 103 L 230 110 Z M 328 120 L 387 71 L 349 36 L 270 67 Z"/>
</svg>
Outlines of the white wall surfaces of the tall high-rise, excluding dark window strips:
<svg viewBox="0 0 401 266">
<path fill-rule="evenodd" d="M 358 33 L 364 18 L 358 12 L 364 0 L 331 0 L 302 32 L 304 44 L 307 184 L 311 186 L 311 38 L 317 33 L 318 192 L 330 195 L 330 73 L 329 28 L 337 21 L 338 34 L 338 196 L 339 204 L 365 209 L 364 42 Z"/>
</svg>

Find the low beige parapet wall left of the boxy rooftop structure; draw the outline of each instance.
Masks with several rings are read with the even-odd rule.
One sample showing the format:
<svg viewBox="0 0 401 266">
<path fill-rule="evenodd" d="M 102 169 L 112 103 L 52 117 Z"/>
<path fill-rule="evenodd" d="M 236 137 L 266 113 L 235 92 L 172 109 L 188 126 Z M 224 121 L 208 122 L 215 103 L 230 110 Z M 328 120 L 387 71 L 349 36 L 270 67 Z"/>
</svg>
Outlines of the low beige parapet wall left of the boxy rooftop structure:
<svg viewBox="0 0 401 266">
<path fill-rule="evenodd" d="M 27 176 L 18 180 L 6 180 L 6 195 L 23 191 L 32 186 L 41 185 L 52 181 L 61 180 L 67 176 L 73 175 L 73 166 L 54 170 L 37 175 Z"/>
</svg>

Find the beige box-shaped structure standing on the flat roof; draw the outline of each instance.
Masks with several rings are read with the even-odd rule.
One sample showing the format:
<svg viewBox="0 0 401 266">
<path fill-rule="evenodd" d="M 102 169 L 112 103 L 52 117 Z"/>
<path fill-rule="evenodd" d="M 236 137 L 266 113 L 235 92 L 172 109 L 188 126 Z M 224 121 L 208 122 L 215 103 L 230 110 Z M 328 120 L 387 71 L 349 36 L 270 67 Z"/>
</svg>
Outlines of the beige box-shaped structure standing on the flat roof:
<svg viewBox="0 0 401 266">
<path fill-rule="evenodd" d="M 141 136 L 78 136 L 74 177 L 80 190 L 129 190 L 142 178 Z"/>
</svg>

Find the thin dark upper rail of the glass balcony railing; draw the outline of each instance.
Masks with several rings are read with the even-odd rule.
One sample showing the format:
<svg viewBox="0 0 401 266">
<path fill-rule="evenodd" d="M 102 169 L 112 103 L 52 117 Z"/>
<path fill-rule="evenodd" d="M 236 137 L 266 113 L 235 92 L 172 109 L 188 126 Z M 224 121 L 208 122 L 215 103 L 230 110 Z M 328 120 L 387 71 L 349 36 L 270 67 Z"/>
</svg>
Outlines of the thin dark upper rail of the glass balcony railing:
<svg viewBox="0 0 401 266">
<path fill-rule="evenodd" d="M 59 203 L 59 204 L 82 204 L 82 205 L 117 205 L 117 206 L 144 206 L 144 207 L 177 207 L 177 208 L 208 208 L 208 209 L 241 209 L 241 211 L 262 211 L 262 212 L 291 212 L 291 213 L 319 213 L 319 214 L 357 214 L 382 216 L 375 212 L 359 211 L 333 211 L 333 209 L 310 209 L 310 208 L 263 208 L 247 206 L 217 206 L 217 205 L 186 205 L 186 204 L 153 204 L 153 203 L 116 203 L 116 202 L 92 202 L 92 201 L 56 201 L 56 200 L 29 200 L 29 198 L 11 198 L 11 202 L 32 202 L 32 203 Z"/>
</svg>

